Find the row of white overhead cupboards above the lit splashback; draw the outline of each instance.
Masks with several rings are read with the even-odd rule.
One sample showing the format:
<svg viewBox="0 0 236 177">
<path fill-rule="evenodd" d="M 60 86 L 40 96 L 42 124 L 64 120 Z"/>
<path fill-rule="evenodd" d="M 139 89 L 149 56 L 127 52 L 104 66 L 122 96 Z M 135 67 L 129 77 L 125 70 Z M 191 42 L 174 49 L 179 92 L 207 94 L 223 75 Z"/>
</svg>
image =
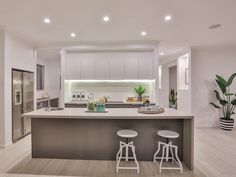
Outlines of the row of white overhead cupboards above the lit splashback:
<svg viewBox="0 0 236 177">
<path fill-rule="evenodd" d="M 66 80 L 154 79 L 154 53 L 77 52 L 65 55 Z"/>
</svg>

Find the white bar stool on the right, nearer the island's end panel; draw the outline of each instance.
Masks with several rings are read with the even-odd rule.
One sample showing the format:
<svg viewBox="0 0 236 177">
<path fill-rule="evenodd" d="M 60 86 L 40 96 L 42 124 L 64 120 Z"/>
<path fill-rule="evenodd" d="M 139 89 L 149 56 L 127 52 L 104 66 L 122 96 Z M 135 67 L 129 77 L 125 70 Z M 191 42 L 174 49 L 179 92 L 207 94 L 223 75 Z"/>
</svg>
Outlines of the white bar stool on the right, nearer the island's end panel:
<svg viewBox="0 0 236 177">
<path fill-rule="evenodd" d="M 178 147 L 172 144 L 170 139 L 178 138 L 179 134 L 177 132 L 169 131 L 169 130 L 160 130 L 157 132 L 157 135 L 166 138 L 167 143 L 158 142 L 158 149 L 153 156 L 153 162 L 157 162 L 157 160 L 161 160 L 159 164 L 159 173 L 161 174 L 162 170 L 180 170 L 180 173 L 183 174 L 183 166 L 178 157 Z M 162 156 L 158 157 L 158 153 L 161 151 L 162 147 Z M 174 150 L 174 153 L 173 153 Z M 169 152 L 171 153 L 171 157 L 169 156 Z M 176 162 L 178 167 L 163 167 L 163 160 L 169 161 L 172 160 L 172 163 Z"/>
</svg>

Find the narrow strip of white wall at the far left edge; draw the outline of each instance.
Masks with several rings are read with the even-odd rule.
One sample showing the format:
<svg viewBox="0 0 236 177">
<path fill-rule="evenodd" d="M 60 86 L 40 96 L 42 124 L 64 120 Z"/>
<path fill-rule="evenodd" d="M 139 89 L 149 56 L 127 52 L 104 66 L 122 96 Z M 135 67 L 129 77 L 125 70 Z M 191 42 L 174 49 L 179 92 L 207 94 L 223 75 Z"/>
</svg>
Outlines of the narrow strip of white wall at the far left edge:
<svg viewBox="0 0 236 177">
<path fill-rule="evenodd" d="M 0 147 L 4 145 L 4 42 L 5 31 L 0 28 Z"/>
</svg>

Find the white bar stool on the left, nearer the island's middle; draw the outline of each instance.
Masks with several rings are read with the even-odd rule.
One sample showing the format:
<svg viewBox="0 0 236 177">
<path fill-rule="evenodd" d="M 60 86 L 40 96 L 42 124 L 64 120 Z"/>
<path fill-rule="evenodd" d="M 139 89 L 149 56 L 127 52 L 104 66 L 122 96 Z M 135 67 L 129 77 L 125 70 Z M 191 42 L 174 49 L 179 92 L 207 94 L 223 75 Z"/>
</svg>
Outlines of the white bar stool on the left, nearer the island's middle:
<svg viewBox="0 0 236 177">
<path fill-rule="evenodd" d="M 120 148 L 119 148 L 119 151 L 116 155 L 116 162 L 117 162 L 116 173 L 119 172 L 119 169 L 137 170 L 137 173 L 139 173 L 139 164 L 138 164 L 137 157 L 135 154 L 135 146 L 134 146 L 133 141 L 129 142 L 129 138 L 134 138 L 134 137 L 138 136 L 138 133 L 134 130 L 125 129 L 125 130 L 119 130 L 117 132 L 117 135 L 119 137 L 125 138 L 126 142 L 120 141 Z M 132 157 L 129 157 L 129 148 L 131 148 L 131 150 L 132 150 L 132 155 L 133 155 Z M 123 156 L 123 152 L 125 152 L 125 156 Z M 126 162 L 129 160 L 134 160 L 136 167 L 120 166 L 120 162 L 122 159 L 124 159 Z"/>
</svg>

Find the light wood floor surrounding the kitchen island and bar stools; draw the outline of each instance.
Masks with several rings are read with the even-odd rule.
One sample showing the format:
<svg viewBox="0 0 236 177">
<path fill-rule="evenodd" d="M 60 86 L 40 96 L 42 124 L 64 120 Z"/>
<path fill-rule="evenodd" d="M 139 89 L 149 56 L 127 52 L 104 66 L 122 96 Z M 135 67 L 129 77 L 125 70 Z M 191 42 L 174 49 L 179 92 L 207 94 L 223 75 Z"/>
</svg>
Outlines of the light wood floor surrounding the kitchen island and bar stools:
<svg viewBox="0 0 236 177">
<path fill-rule="evenodd" d="M 152 162 L 140 162 L 141 173 L 121 171 L 115 173 L 115 162 L 79 161 L 30 158 L 30 136 L 6 149 L 0 149 L 0 177 L 46 177 L 43 175 L 93 176 L 93 177 L 236 177 L 236 130 L 225 132 L 219 129 L 195 130 L 195 170 L 187 169 L 184 175 L 177 171 L 163 171 Z M 199 170 L 200 169 L 200 170 Z M 14 172 L 10 174 L 7 172 Z M 35 175 L 25 175 L 35 174 Z M 40 174 L 40 175 L 38 175 Z M 203 175 L 204 174 L 204 175 Z"/>
</svg>

